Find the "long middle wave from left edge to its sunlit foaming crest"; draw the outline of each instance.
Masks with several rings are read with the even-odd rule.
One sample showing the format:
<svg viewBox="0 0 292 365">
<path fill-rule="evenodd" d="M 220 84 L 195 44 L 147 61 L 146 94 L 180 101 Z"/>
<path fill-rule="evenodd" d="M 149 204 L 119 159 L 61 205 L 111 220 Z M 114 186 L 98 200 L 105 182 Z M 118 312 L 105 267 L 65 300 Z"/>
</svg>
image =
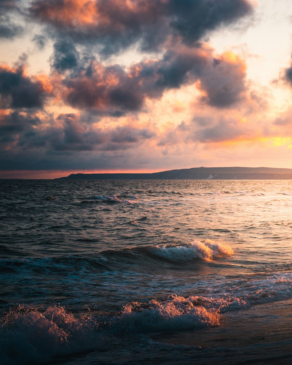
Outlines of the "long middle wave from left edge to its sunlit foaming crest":
<svg viewBox="0 0 292 365">
<path fill-rule="evenodd" d="M 138 224 L 148 218 L 143 216 L 137 221 L 130 222 Z M 104 270 L 119 270 L 125 265 L 145 264 L 153 269 L 160 267 L 161 258 L 172 262 L 191 261 L 202 259 L 205 261 L 215 261 L 218 258 L 232 255 L 233 250 L 227 244 L 223 244 L 211 239 L 204 241 L 193 241 L 188 244 L 172 245 L 149 245 L 115 250 L 105 250 L 91 255 L 70 255 L 56 257 L 27 257 L 27 258 L 2 258 L 0 264 L 2 273 L 35 275 L 37 272 L 43 274 L 74 272 L 90 274 L 103 272 Z"/>
</svg>

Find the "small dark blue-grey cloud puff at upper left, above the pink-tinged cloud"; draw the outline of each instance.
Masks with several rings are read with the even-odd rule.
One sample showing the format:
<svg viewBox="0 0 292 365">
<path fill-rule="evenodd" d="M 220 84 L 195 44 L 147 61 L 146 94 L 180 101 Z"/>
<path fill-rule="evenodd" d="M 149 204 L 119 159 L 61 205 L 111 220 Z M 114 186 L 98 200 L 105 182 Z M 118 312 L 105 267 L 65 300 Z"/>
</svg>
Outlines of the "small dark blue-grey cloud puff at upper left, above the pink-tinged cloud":
<svg viewBox="0 0 292 365">
<path fill-rule="evenodd" d="M 72 42 L 60 40 L 54 43 L 52 66 L 55 70 L 72 70 L 78 65 L 78 61 L 79 54 Z"/>
</svg>

